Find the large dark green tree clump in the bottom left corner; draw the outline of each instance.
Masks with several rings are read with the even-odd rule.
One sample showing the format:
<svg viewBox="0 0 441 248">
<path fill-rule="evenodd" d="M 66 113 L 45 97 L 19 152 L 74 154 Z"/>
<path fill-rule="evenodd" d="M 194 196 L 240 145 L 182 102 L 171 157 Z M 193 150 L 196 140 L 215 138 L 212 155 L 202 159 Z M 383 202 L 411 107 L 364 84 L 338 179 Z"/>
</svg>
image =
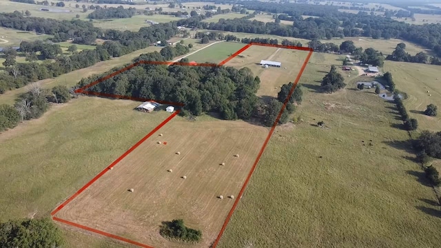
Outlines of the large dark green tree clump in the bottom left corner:
<svg viewBox="0 0 441 248">
<path fill-rule="evenodd" d="M 9 220 L 0 224 L 0 247 L 61 247 L 61 230 L 50 218 Z"/>
</svg>

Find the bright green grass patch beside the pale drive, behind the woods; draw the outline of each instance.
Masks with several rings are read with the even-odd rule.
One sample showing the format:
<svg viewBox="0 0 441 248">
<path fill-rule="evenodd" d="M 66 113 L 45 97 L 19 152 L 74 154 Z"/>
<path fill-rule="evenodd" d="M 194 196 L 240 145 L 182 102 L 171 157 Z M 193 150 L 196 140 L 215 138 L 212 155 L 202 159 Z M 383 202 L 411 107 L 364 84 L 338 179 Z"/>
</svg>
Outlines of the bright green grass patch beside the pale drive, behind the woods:
<svg viewBox="0 0 441 248">
<path fill-rule="evenodd" d="M 197 63 L 219 63 L 244 46 L 243 43 L 220 42 L 187 56 L 187 58 L 189 61 L 196 61 Z"/>
</svg>

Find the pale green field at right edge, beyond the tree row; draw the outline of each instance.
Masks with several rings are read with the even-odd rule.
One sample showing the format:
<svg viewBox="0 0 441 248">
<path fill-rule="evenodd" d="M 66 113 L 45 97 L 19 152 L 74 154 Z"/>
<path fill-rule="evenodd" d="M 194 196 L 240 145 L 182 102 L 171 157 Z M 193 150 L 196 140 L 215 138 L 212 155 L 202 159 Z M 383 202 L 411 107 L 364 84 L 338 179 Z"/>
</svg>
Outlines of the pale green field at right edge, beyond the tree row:
<svg viewBox="0 0 441 248">
<path fill-rule="evenodd" d="M 441 107 L 440 66 L 384 61 L 384 72 L 391 72 L 396 88 L 407 93 L 408 99 L 404 100 L 404 105 L 409 116 L 418 120 L 418 129 L 440 131 L 440 116 L 422 113 L 431 103 Z"/>
</svg>

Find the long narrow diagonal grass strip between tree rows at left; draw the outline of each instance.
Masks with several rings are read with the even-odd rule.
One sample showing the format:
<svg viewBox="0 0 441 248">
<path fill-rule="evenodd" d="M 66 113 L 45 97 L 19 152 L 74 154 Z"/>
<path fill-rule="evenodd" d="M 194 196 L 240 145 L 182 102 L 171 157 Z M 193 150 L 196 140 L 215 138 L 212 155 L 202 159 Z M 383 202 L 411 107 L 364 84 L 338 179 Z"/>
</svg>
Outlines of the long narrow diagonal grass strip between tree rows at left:
<svg viewBox="0 0 441 248">
<path fill-rule="evenodd" d="M 44 79 L 38 81 L 41 84 L 41 87 L 44 88 L 52 88 L 57 85 L 66 85 L 68 87 L 72 87 L 76 85 L 83 77 L 91 76 L 92 74 L 100 74 L 103 72 L 107 72 L 108 70 L 119 66 L 124 65 L 125 63 L 130 63 L 132 59 L 138 57 L 139 55 L 147 52 L 154 52 L 161 50 L 161 47 L 151 46 L 142 50 L 137 50 L 130 54 L 121 56 L 119 58 L 111 59 L 110 61 L 104 61 L 96 63 L 95 65 L 90 66 L 89 68 L 83 68 L 80 70 L 76 70 L 73 72 L 69 72 L 67 74 L 63 74 L 55 79 Z M 29 89 L 28 87 L 21 87 L 17 90 L 9 90 L 4 94 L 0 95 L 0 104 L 14 104 L 14 101 L 17 99 L 17 96 L 23 94 Z"/>
</svg>

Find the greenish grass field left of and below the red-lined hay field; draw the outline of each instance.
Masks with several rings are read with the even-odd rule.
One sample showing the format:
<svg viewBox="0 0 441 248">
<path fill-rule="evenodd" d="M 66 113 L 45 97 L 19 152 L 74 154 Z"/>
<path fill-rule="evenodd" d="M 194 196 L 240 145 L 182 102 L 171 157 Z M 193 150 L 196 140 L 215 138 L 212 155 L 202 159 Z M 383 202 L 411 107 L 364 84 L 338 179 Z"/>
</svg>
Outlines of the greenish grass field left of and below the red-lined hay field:
<svg viewBox="0 0 441 248">
<path fill-rule="evenodd" d="M 103 167 L 167 118 L 137 102 L 81 96 L 0 134 L 0 222 L 49 216 Z M 68 247 L 121 247 L 65 229 Z M 127 246 L 126 246 L 127 247 Z"/>
</svg>

